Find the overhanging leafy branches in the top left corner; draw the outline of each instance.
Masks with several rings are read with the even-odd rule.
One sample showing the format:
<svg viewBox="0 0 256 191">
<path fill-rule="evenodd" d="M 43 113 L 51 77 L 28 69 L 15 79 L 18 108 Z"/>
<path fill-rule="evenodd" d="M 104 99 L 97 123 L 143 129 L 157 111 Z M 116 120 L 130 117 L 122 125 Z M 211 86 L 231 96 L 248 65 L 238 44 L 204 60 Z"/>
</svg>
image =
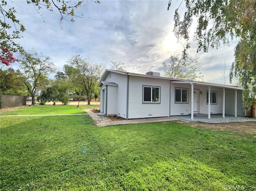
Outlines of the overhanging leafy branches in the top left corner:
<svg viewBox="0 0 256 191">
<path fill-rule="evenodd" d="M 99 0 L 91 0 L 95 3 L 100 3 Z M 27 4 L 33 4 L 33 8 L 36 9 L 38 14 L 42 8 L 46 8 L 51 12 L 60 13 L 60 21 L 66 17 L 70 17 L 71 22 L 74 22 L 74 18 L 83 18 L 80 10 L 76 12 L 76 9 L 84 6 L 84 0 L 26 0 Z M 21 51 L 20 44 L 15 42 L 15 39 L 19 39 L 22 33 L 25 32 L 25 26 L 22 23 L 22 18 L 17 14 L 14 5 L 17 5 L 17 1 L 1 0 L 0 2 L 0 45 L 8 48 L 11 52 Z M 22 3 L 20 6 L 22 7 Z M 19 5 L 19 4 L 18 4 Z"/>
</svg>

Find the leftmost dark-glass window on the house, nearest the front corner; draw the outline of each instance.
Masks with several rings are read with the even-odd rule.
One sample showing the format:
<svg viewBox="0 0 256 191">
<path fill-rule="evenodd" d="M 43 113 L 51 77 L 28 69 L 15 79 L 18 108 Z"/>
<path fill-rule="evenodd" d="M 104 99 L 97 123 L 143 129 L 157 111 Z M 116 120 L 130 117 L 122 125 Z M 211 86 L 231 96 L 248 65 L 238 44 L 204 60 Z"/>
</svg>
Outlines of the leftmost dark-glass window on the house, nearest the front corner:
<svg viewBox="0 0 256 191">
<path fill-rule="evenodd" d="M 160 102 L 160 87 L 143 87 L 143 102 Z"/>
</svg>

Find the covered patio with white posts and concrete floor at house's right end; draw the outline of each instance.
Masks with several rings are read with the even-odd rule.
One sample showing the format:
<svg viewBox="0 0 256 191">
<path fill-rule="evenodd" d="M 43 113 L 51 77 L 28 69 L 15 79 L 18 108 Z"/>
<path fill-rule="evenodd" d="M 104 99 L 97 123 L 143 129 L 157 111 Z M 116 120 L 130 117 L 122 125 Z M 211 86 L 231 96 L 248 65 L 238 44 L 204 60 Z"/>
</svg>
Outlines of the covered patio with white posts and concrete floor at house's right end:
<svg viewBox="0 0 256 191">
<path fill-rule="evenodd" d="M 190 114 L 183 116 L 171 115 L 172 117 L 188 121 L 201 121 L 245 116 L 242 106 L 242 87 L 194 81 L 173 81 L 171 83 L 174 85 L 190 85 L 191 92 L 188 96 L 188 103 L 190 103 L 188 111 L 190 111 Z"/>
</svg>

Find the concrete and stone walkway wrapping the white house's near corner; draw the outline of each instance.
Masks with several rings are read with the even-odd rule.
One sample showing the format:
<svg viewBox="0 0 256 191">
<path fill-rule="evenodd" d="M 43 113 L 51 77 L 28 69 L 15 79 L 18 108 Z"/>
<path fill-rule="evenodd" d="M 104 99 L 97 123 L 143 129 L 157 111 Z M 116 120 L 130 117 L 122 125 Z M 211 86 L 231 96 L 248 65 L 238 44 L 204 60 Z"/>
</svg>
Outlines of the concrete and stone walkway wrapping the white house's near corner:
<svg viewBox="0 0 256 191">
<path fill-rule="evenodd" d="M 111 126 L 111 125 L 124 125 L 124 124 L 139 124 L 139 123 L 153 123 L 153 122 L 167 122 L 167 121 L 180 121 L 180 119 L 173 117 L 157 117 L 157 118 L 140 118 L 129 120 L 116 120 L 112 121 L 108 117 L 98 116 L 97 113 L 92 112 L 90 109 L 85 110 L 91 118 L 95 121 L 96 126 Z"/>
</svg>

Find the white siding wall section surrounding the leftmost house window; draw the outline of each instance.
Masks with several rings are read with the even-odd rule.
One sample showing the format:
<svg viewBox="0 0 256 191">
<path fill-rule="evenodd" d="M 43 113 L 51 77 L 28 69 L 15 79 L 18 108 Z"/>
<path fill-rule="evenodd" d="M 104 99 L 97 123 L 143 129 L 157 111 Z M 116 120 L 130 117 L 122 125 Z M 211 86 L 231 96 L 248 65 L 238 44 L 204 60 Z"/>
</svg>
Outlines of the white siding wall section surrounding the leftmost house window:
<svg viewBox="0 0 256 191">
<path fill-rule="evenodd" d="M 160 87 L 160 103 L 142 103 L 143 85 Z M 129 119 L 169 116 L 169 94 L 169 80 L 130 76 L 128 106 Z"/>
</svg>

